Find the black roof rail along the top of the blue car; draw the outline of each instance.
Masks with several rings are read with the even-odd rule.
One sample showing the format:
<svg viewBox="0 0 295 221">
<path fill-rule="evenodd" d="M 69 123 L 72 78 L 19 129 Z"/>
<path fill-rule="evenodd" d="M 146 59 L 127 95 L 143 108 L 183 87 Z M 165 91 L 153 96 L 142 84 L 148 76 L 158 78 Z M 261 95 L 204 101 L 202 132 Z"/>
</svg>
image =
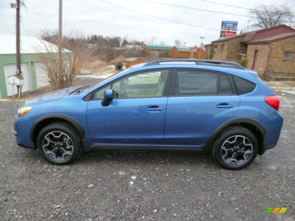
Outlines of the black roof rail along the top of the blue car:
<svg viewBox="0 0 295 221">
<path fill-rule="evenodd" d="M 176 59 L 160 59 L 160 60 L 151 60 L 143 66 L 150 65 L 161 65 L 165 62 L 195 62 L 196 65 L 210 65 L 210 66 L 219 66 L 219 67 L 230 67 L 245 70 L 245 68 L 237 62 L 232 61 L 218 61 L 218 60 L 199 60 L 195 58 L 176 58 Z"/>
</svg>

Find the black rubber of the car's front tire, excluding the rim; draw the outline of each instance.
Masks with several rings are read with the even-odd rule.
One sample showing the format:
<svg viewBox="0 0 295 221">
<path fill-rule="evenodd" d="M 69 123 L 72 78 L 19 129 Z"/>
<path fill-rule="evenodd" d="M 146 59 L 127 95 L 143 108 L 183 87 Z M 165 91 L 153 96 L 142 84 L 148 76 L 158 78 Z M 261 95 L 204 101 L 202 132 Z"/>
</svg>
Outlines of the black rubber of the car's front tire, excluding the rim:
<svg viewBox="0 0 295 221">
<path fill-rule="evenodd" d="M 52 159 L 43 150 L 43 147 L 42 147 L 43 139 L 48 133 L 50 133 L 52 131 L 63 132 L 65 134 L 67 134 L 71 138 L 71 140 L 73 141 L 73 146 L 74 146 L 73 154 L 64 161 L 59 161 L 59 160 Z M 79 137 L 77 137 L 77 134 L 75 134 L 70 128 L 68 128 L 66 126 L 63 126 L 63 125 L 52 124 L 52 125 L 49 125 L 49 126 L 43 128 L 40 131 L 40 133 L 39 133 L 39 135 L 37 137 L 36 144 L 37 144 L 37 148 L 38 148 L 40 154 L 43 156 L 43 158 L 45 160 L 47 160 L 48 162 L 50 162 L 52 164 L 55 164 L 55 165 L 70 164 L 71 162 L 76 160 L 78 158 L 78 156 L 80 155 L 80 153 L 81 153 Z"/>
</svg>

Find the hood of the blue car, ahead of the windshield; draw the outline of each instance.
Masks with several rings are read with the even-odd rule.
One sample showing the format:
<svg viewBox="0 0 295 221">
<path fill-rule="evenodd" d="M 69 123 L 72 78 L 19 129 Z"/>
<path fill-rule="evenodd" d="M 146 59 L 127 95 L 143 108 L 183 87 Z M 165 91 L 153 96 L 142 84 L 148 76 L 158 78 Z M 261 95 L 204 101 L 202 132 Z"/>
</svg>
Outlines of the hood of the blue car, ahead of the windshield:
<svg viewBox="0 0 295 221">
<path fill-rule="evenodd" d="M 54 100 L 60 100 L 64 96 L 68 96 L 73 91 L 75 91 L 75 90 L 77 90 L 79 88 L 83 88 L 85 86 L 87 86 L 87 85 L 74 86 L 74 87 L 64 88 L 64 89 L 55 90 L 53 92 L 49 92 L 49 93 L 46 93 L 46 94 L 42 94 L 42 95 L 40 95 L 38 97 L 27 100 L 22 106 L 40 104 L 40 103 L 54 101 Z"/>
</svg>

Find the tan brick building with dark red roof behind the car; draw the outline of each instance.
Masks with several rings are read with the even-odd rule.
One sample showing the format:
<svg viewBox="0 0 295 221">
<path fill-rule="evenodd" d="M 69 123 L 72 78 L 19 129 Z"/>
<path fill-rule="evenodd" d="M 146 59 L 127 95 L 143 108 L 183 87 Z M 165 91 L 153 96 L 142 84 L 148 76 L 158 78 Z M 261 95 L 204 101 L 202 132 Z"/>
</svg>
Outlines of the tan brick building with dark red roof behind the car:
<svg viewBox="0 0 295 221">
<path fill-rule="evenodd" d="M 245 32 L 206 45 L 206 58 L 240 62 L 268 80 L 295 80 L 295 29 L 286 25 Z M 210 56 L 211 53 L 211 56 Z"/>
</svg>

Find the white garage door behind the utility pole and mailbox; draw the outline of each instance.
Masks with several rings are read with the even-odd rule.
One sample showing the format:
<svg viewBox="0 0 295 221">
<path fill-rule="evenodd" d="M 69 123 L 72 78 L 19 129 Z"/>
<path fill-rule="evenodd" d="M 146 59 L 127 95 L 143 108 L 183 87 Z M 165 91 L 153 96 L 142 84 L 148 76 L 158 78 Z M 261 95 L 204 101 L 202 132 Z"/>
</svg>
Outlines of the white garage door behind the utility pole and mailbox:
<svg viewBox="0 0 295 221">
<path fill-rule="evenodd" d="M 16 63 L 4 65 L 4 76 L 5 76 L 5 82 L 6 82 L 7 96 L 12 96 L 12 85 L 7 83 L 8 82 L 7 77 L 15 74 L 16 67 L 17 67 Z M 22 69 L 23 78 L 24 78 L 24 85 L 22 86 L 22 92 L 26 92 L 31 90 L 31 87 L 32 87 L 29 62 L 22 62 L 21 69 Z M 17 86 L 14 85 L 13 87 L 14 87 L 13 88 L 14 94 L 17 94 Z"/>
</svg>

